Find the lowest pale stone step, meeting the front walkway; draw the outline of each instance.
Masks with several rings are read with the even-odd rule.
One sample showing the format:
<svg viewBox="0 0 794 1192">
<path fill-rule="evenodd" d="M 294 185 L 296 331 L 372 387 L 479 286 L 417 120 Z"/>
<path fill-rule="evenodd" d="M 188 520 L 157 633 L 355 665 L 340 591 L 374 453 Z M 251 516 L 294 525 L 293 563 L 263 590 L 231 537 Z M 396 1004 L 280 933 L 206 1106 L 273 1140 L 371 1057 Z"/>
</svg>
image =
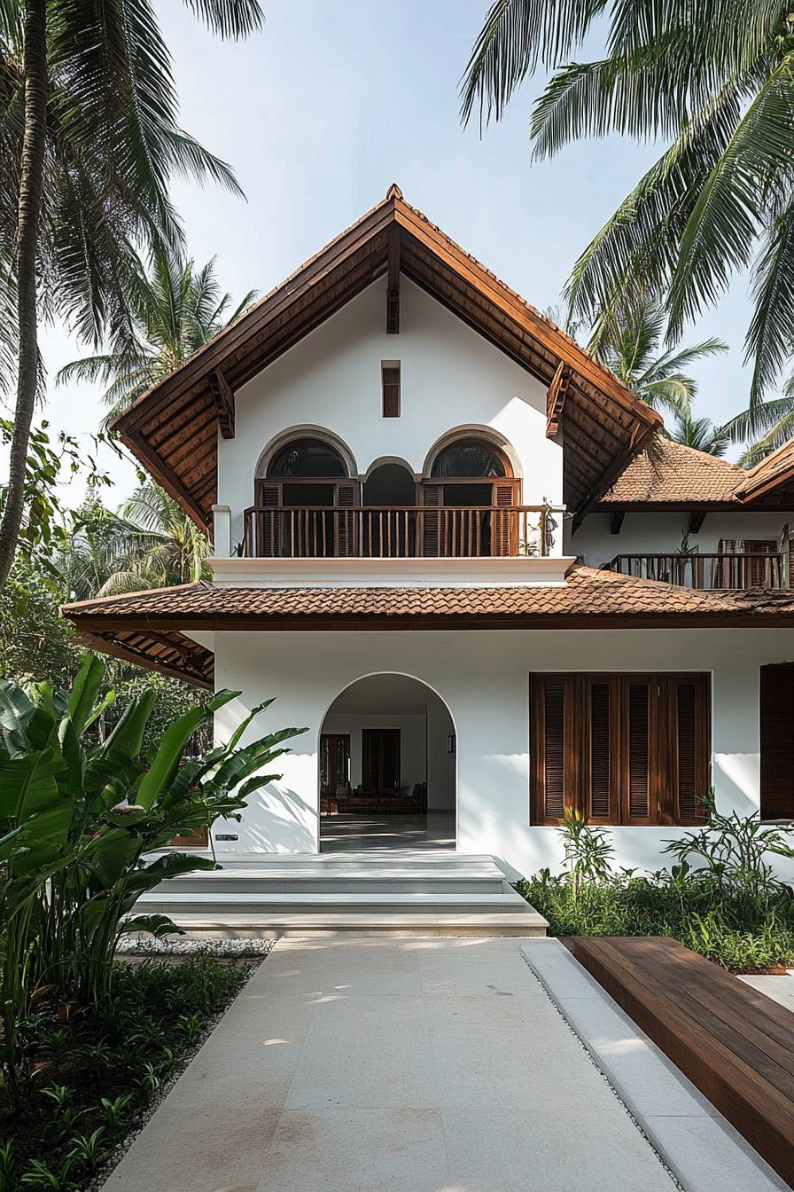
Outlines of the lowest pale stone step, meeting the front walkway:
<svg viewBox="0 0 794 1192">
<path fill-rule="evenodd" d="M 293 936 L 545 936 L 549 924 L 531 906 L 509 914 L 183 914 L 180 926 L 195 939 L 281 939 Z"/>
</svg>

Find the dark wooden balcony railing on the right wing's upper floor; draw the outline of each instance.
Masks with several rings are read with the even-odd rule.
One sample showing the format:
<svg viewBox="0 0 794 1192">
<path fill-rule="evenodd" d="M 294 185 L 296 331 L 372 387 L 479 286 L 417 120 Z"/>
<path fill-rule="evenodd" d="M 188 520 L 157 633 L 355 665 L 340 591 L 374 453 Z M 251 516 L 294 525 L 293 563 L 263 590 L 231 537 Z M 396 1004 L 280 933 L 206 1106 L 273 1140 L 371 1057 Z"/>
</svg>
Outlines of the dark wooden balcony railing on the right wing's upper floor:
<svg viewBox="0 0 794 1192">
<path fill-rule="evenodd" d="M 782 553 L 615 554 L 607 570 L 701 591 L 789 586 L 788 559 Z"/>
</svg>

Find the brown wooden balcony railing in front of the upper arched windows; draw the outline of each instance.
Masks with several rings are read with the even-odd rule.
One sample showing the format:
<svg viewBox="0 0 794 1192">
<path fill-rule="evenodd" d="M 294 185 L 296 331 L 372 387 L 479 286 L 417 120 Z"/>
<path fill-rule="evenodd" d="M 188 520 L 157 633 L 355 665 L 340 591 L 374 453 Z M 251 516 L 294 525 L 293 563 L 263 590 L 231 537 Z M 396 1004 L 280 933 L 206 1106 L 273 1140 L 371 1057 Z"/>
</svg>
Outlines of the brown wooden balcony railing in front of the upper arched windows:
<svg viewBox="0 0 794 1192">
<path fill-rule="evenodd" d="M 243 552 L 258 559 L 545 555 L 556 526 L 544 505 L 252 505 Z"/>
</svg>

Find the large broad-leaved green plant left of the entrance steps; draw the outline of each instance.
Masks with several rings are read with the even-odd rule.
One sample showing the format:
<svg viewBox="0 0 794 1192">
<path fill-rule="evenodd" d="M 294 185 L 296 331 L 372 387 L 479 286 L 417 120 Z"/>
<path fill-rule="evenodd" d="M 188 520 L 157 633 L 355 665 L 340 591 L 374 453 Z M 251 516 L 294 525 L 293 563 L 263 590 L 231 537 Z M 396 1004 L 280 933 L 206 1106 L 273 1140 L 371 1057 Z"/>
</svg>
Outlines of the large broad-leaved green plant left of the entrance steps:
<svg viewBox="0 0 794 1192">
<path fill-rule="evenodd" d="M 195 853 L 152 859 L 152 850 L 219 817 L 238 818 L 246 797 L 273 780 L 267 769 L 287 752 L 283 741 L 300 731 L 240 746 L 262 704 L 227 745 L 185 760 L 196 730 L 238 694 L 221 691 L 174 720 L 144 755 L 152 693 L 96 740 L 93 726 L 112 706 L 112 695 L 99 696 L 102 677 L 100 660 L 86 656 L 70 691 L 42 683 L 30 697 L 0 681 L 0 1062 L 12 1092 L 19 1019 L 37 998 L 55 991 L 67 1002 L 107 999 L 115 945 L 138 898 L 164 879 L 215 868 Z"/>
</svg>

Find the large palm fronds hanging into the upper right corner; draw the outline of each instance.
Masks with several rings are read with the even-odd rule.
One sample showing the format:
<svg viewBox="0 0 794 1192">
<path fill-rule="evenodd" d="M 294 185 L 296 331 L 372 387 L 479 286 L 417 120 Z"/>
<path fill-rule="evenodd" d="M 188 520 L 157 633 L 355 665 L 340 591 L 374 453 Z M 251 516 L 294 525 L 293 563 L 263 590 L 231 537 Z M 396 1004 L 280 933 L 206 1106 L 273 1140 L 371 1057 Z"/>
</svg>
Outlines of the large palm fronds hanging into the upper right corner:
<svg viewBox="0 0 794 1192">
<path fill-rule="evenodd" d="M 596 26 L 595 29 L 593 26 Z M 571 62 L 604 31 L 606 51 Z M 794 350 L 794 15 L 788 0 L 495 0 L 462 83 L 463 119 L 499 119 L 519 83 L 552 72 L 534 104 L 537 157 L 612 132 L 668 148 L 576 262 L 567 297 L 606 322 L 649 288 L 668 337 L 751 268 L 746 430 Z M 757 252 L 759 248 L 759 252 Z"/>
</svg>

